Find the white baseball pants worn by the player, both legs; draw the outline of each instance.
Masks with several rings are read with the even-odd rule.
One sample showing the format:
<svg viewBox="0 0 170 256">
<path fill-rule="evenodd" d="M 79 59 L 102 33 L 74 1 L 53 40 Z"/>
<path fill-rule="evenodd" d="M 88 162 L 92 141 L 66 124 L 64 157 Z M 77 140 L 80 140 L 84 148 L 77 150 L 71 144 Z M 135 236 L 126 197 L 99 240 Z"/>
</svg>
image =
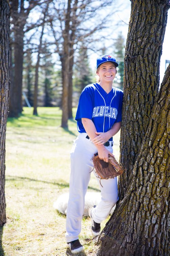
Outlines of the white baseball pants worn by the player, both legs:
<svg viewBox="0 0 170 256">
<path fill-rule="evenodd" d="M 91 171 L 94 168 L 92 157 L 97 153 L 96 146 L 90 139 L 87 139 L 86 136 L 87 133 L 79 134 L 74 140 L 70 153 L 71 174 L 66 219 L 66 242 L 79 239 L 81 220 L 84 212 L 84 198 L 87 192 Z M 110 152 L 113 152 L 112 147 L 106 148 Z M 107 218 L 119 197 L 117 178 L 101 180 L 103 187 L 100 185 L 100 179 L 97 178 L 97 180 L 101 190 L 101 201 L 98 206 L 92 210 L 91 215 L 95 222 L 101 223 Z"/>
</svg>

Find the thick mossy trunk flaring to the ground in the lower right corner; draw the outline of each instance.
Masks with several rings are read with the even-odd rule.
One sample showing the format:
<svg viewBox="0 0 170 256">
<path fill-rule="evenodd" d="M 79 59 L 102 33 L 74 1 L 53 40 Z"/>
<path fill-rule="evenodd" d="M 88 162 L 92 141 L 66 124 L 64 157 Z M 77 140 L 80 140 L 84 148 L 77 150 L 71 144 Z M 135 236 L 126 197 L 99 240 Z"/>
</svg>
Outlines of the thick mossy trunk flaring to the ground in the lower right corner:
<svg viewBox="0 0 170 256">
<path fill-rule="evenodd" d="M 169 89 L 170 65 L 126 195 L 99 237 L 97 256 L 169 255 Z"/>
</svg>

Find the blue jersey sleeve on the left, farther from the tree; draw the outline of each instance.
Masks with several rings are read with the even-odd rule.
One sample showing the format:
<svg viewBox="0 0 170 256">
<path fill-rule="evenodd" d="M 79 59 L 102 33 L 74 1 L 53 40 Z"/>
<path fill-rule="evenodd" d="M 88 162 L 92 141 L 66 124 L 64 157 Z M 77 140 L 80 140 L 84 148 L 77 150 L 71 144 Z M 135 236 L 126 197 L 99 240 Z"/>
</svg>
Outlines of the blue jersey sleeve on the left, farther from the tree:
<svg viewBox="0 0 170 256">
<path fill-rule="evenodd" d="M 75 120 L 81 121 L 81 118 L 88 118 L 92 120 L 92 111 L 93 111 L 92 90 L 90 90 L 90 88 L 87 87 L 82 91 L 80 95 Z"/>
</svg>

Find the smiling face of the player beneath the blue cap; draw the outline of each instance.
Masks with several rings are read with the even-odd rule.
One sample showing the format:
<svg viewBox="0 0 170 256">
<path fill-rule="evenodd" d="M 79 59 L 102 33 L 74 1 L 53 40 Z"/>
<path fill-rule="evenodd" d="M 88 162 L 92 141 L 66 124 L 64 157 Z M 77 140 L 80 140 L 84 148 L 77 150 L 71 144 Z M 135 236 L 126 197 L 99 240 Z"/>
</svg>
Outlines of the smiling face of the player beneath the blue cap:
<svg viewBox="0 0 170 256">
<path fill-rule="evenodd" d="M 102 63 L 96 74 L 100 77 L 101 82 L 112 82 L 116 76 L 116 67 L 109 61 Z"/>
</svg>

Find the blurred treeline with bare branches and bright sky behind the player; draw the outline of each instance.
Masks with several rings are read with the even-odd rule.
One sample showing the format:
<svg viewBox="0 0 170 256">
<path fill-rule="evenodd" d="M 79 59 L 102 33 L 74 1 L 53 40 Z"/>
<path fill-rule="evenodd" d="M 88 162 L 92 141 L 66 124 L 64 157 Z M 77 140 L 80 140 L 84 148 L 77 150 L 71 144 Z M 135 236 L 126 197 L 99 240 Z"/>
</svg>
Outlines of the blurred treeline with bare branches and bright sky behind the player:
<svg viewBox="0 0 170 256">
<path fill-rule="evenodd" d="M 60 106 L 62 127 L 67 127 L 82 89 L 95 82 L 90 67 L 94 52 L 116 57 L 120 64 L 115 86 L 122 88 L 125 39 L 123 22 L 114 18 L 118 1 L 13 0 L 10 4 L 8 116 L 18 117 L 27 105 L 34 108 L 34 115 L 37 106 Z"/>
</svg>

